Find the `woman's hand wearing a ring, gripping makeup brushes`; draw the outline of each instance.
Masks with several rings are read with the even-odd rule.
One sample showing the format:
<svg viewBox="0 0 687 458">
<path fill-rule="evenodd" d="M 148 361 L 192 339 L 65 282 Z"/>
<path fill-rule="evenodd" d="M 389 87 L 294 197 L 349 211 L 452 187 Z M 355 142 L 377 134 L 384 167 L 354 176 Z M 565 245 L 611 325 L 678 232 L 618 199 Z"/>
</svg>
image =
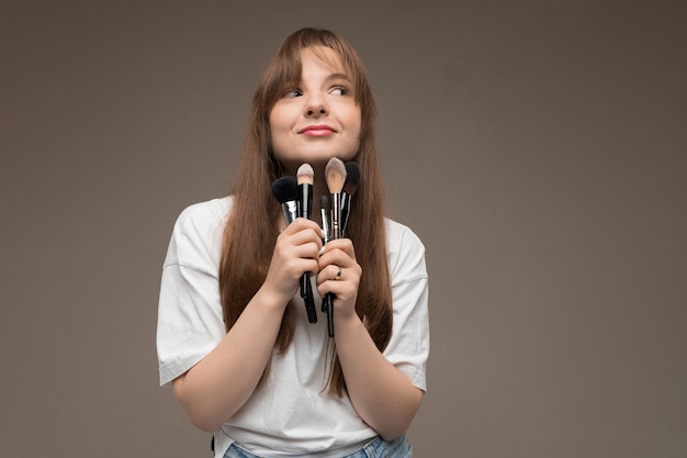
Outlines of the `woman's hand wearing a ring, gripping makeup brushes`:
<svg viewBox="0 0 687 458">
<path fill-rule="evenodd" d="M 350 238 L 336 238 L 324 246 L 319 256 L 319 272 L 317 273 L 317 291 L 323 298 L 331 292 L 334 314 L 351 316 L 356 314 L 356 299 L 358 286 L 362 275 L 362 267 L 356 260 L 356 250 Z"/>
</svg>

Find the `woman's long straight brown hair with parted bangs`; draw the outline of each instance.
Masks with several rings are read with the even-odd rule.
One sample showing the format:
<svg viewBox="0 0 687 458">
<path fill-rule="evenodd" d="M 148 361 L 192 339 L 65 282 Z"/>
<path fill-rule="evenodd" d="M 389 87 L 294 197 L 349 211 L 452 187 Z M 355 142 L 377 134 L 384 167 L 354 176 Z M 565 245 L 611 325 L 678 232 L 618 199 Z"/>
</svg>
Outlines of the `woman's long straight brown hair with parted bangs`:
<svg viewBox="0 0 687 458">
<path fill-rule="evenodd" d="M 266 67 L 252 98 L 243 156 L 233 190 L 232 215 L 227 221 L 219 265 L 219 292 L 228 329 L 262 286 L 279 228 L 280 205 L 271 193 L 281 165 L 271 148 L 269 114 L 288 87 L 301 80 L 301 51 L 312 46 L 334 49 L 353 83 L 361 111 L 359 149 L 353 158 L 361 179 L 353 198 L 347 236 L 362 267 L 356 311 L 376 347 L 383 350 L 392 334 L 392 295 L 388 275 L 383 191 L 378 163 L 374 123 L 376 109 L 360 57 L 338 34 L 302 29 L 289 35 Z M 275 347 L 283 351 L 292 342 L 295 310 L 291 301 L 284 312 Z M 328 391 L 342 395 L 346 387 L 336 355 L 331 360 Z"/>
</svg>

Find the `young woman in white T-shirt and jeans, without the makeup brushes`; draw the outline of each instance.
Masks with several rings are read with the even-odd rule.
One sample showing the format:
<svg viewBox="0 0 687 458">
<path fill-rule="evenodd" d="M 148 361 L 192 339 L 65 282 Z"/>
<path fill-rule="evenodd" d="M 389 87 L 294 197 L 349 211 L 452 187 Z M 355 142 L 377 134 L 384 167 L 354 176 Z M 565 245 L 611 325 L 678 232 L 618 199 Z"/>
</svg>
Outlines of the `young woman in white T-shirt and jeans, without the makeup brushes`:
<svg viewBox="0 0 687 458">
<path fill-rule="evenodd" d="M 252 100 L 230 196 L 179 216 L 161 279 L 160 383 L 215 457 L 410 457 L 405 438 L 429 351 L 425 252 L 385 219 L 364 67 L 339 35 L 304 29 L 268 64 Z M 286 226 L 271 183 L 329 159 L 361 179 L 348 238 L 323 244 L 318 221 Z M 319 215 L 314 199 L 313 215 Z M 333 293 L 334 337 L 299 294 Z"/>
</svg>

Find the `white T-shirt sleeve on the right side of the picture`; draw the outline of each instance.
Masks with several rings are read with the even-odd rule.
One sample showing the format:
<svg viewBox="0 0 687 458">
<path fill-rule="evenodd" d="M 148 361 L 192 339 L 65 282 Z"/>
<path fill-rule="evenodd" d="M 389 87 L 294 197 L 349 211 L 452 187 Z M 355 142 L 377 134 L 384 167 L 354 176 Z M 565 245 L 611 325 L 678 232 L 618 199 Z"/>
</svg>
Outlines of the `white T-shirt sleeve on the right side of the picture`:
<svg viewBox="0 0 687 458">
<path fill-rule="evenodd" d="M 384 356 L 413 384 L 427 391 L 429 284 L 425 246 L 408 227 L 387 220 L 394 327 Z"/>
</svg>

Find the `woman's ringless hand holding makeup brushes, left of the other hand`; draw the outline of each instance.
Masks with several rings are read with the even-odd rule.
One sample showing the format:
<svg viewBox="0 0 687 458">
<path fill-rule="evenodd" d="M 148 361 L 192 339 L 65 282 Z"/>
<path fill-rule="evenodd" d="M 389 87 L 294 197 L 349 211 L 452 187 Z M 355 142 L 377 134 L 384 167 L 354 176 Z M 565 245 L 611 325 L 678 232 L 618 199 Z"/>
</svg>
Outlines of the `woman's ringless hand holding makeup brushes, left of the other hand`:
<svg viewBox="0 0 687 458">
<path fill-rule="evenodd" d="M 299 290 L 304 272 L 316 275 L 324 234 L 316 222 L 296 219 L 277 237 L 262 288 L 280 298 L 284 306 Z"/>
</svg>

